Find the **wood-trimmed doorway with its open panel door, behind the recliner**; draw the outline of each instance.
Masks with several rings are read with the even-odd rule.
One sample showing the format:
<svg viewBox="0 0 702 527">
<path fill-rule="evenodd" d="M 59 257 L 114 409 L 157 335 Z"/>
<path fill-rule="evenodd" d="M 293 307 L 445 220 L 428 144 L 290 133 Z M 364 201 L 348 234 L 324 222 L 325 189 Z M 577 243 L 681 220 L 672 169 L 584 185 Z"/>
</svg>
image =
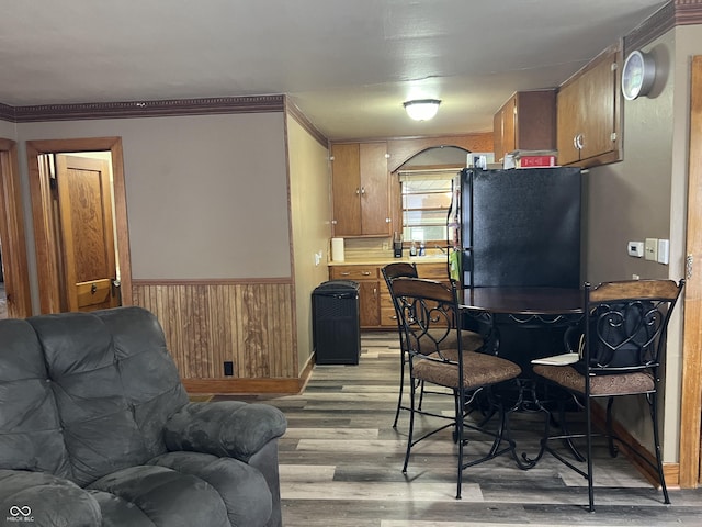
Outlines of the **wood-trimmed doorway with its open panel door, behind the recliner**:
<svg viewBox="0 0 702 527">
<path fill-rule="evenodd" d="M 41 313 L 131 304 L 121 138 L 30 141 L 26 149 Z"/>
</svg>

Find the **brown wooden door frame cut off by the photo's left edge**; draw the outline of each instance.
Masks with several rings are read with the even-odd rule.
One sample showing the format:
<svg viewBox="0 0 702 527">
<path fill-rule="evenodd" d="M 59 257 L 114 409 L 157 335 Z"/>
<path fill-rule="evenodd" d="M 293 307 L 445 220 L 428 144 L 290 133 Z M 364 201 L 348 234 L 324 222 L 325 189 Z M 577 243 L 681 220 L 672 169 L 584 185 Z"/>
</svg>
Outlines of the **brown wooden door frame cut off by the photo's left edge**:
<svg viewBox="0 0 702 527">
<path fill-rule="evenodd" d="M 22 208 L 22 191 L 14 141 L 0 138 L 0 239 L 8 301 L 8 315 L 22 318 L 32 315 L 30 274 Z"/>
</svg>

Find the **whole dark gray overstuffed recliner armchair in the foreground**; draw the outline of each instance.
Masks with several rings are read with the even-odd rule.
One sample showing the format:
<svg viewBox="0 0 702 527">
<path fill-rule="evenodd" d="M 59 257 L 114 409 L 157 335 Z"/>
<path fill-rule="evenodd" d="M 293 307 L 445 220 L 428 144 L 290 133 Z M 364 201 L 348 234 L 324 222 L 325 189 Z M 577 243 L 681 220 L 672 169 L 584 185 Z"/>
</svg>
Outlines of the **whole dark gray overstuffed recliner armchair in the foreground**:
<svg viewBox="0 0 702 527">
<path fill-rule="evenodd" d="M 285 428 L 189 402 L 140 307 L 0 321 L 0 524 L 280 526 Z"/>
</svg>

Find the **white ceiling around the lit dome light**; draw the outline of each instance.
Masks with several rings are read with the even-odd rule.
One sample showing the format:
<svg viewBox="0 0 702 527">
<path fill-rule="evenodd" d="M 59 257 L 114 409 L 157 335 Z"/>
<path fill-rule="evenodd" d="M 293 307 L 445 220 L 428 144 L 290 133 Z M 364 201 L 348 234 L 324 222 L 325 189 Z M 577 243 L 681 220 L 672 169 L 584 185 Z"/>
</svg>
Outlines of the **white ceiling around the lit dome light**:
<svg viewBox="0 0 702 527">
<path fill-rule="evenodd" d="M 328 138 L 486 132 L 661 0 L 14 0 L 0 5 L 12 106 L 287 93 Z M 442 100 L 412 122 L 408 99 Z"/>
</svg>

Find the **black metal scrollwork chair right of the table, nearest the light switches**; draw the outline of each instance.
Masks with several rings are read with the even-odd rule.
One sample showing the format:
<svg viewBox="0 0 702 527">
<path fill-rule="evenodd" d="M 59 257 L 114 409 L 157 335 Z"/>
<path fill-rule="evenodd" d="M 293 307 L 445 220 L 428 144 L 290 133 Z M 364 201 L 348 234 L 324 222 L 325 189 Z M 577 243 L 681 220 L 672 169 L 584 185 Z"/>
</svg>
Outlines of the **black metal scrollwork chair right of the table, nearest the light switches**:
<svg viewBox="0 0 702 527">
<path fill-rule="evenodd" d="M 573 366 L 537 365 L 536 374 L 565 389 L 585 410 L 585 431 L 570 433 L 563 423 L 562 434 L 551 435 L 546 429 L 541 442 L 541 457 L 550 452 L 561 462 L 588 480 L 589 509 L 595 511 L 592 489 L 592 418 L 593 399 L 607 400 L 604 435 L 612 457 L 616 456 L 614 441 L 624 441 L 612 430 L 612 405 L 622 395 L 642 394 L 648 402 L 653 422 L 653 438 L 656 462 L 635 448 L 632 452 L 641 457 L 657 472 L 666 504 L 670 503 L 663 472 L 663 460 L 658 433 L 658 369 L 665 346 L 670 315 L 684 285 L 681 280 L 631 280 L 604 282 L 596 288 L 585 284 L 585 306 L 588 314 L 582 324 L 581 358 Z M 563 414 L 562 419 L 565 418 Z M 585 438 L 582 470 L 564 457 L 552 442 Z M 580 460 L 581 461 L 581 460 Z"/>
</svg>

